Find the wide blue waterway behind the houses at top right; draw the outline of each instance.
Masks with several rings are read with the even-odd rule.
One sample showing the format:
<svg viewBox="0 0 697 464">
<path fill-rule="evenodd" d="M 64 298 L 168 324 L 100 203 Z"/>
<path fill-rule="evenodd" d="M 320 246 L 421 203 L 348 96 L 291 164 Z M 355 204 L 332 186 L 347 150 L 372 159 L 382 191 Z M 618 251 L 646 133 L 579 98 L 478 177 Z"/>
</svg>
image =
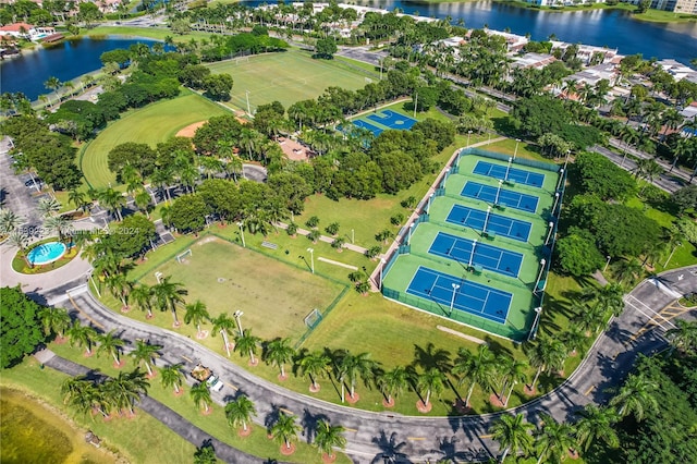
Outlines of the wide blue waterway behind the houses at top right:
<svg viewBox="0 0 697 464">
<path fill-rule="evenodd" d="M 268 3 L 276 3 L 267 1 Z M 357 0 L 357 4 L 401 9 L 405 13 L 445 19 L 453 24 L 463 19 L 465 27 L 492 29 L 513 34 L 530 34 L 534 40 L 545 40 L 555 34 L 559 40 L 617 48 L 622 54 L 641 53 L 644 58 L 672 58 L 683 63 L 697 58 L 697 23 L 658 24 L 632 19 L 631 13 L 619 10 L 589 10 L 574 12 L 539 11 L 492 1 L 467 3 L 419 3 L 402 0 Z M 248 5 L 260 1 L 244 2 Z"/>
</svg>

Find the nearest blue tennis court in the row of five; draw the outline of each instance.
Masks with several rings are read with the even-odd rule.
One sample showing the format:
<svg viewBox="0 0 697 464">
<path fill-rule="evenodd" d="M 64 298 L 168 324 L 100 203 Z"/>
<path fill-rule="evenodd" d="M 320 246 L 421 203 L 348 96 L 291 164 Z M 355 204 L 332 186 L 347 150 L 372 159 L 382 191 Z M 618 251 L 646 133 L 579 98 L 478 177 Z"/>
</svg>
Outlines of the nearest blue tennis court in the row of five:
<svg viewBox="0 0 697 464">
<path fill-rule="evenodd" d="M 493 322 L 505 323 L 511 307 L 511 293 L 419 266 L 406 293 L 453 309 L 474 314 Z M 453 298 L 454 294 L 454 298 Z"/>
</svg>

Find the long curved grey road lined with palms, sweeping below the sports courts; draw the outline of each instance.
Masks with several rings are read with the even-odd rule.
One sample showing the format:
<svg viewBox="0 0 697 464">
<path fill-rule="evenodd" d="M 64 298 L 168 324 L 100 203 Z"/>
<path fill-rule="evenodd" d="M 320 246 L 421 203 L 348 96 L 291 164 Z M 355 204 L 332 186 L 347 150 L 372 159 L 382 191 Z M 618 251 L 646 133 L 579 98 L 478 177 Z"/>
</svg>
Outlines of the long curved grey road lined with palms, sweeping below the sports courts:
<svg viewBox="0 0 697 464">
<path fill-rule="evenodd" d="M 310 430 L 318 419 L 341 424 L 348 429 L 346 452 L 357 463 L 409 463 L 442 457 L 475 461 L 498 453 L 498 445 L 487 436 L 488 426 L 498 414 L 447 418 L 400 416 L 319 401 L 262 380 L 186 337 L 105 308 L 87 291 L 84 277 L 73 284 L 78 286 L 71 289 L 72 285 L 66 284 L 41 295 L 47 302 L 76 309 L 81 319 L 99 329 L 117 329 L 118 335 L 130 343 L 145 339 L 163 345 L 163 356 L 158 364 L 183 362 L 192 368 L 200 362 L 211 367 L 227 383 L 220 393 L 213 393 L 216 402 L 222 405 L 236 392 L 243 392 L 256 403 L 260 424 L 272 422 L 280 408 L 290 411 L 298 417 L 304 427 L 303 439 L 307 441 L 311 441 Z M 694 310 L 690 314 L 673 307 L 680 294 L 696 288 L 697 266 L 663 273 L 659 280 L 644 281 L 625 297 L 623 315 L 610 323 L 570 379 L 552 393 L 511 412 L 523 413 L 534 423 L 540 412 L 564 420 L 587 403 L 606 402 L 606 390 L 626 376 L 639 353 L 652 353 L 665 345 L 661 334 L 672 327 L 671 317 L 695 317 Z M 657 316 L 667 307 L 664 317 Z M 660 325 L 647 326 L 650 320 L 658 320 Z M 645 330 L 647 327 L 652 329 Z M 332 388 L 331 381 L 325 380 L 322 388 Z"/>
</svg>

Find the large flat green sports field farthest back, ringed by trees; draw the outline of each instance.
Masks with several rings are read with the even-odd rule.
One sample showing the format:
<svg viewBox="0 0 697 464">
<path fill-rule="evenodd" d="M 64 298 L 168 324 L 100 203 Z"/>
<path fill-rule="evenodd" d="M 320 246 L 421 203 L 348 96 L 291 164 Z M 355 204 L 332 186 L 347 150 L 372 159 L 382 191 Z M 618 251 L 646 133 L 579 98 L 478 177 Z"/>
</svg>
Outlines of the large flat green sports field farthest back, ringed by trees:
<svg viewBox="0 0 697 464">
<path fill-rule="evenodd" d="M 247 91 L 252 111 L 274 100 L 288 108 L 296 101 L 317 98 L 327 87 L 355 90 L 366 85 L 366 77 L 376 77 L 339 60 L 313 60 L 308 52 L 298 50 L 244 57 L 208 66 L 213 74 L 232 76 L 232 98 L 227 103 L 245 111 Z"/>
</svg>

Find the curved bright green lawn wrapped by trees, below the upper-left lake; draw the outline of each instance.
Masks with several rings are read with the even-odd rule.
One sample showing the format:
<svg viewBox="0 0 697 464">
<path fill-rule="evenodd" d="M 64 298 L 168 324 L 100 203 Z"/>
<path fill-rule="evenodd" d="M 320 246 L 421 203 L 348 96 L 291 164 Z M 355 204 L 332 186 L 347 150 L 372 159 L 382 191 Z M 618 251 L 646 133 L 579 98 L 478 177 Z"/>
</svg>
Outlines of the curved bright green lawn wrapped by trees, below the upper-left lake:
<svg viewBox="0 0 697 464">
<path fill-rule="evenodd" d="M 117 145 L 136 142 L 155 147 L 182 127 L 224 113 L 225 110 L 218 105 L 182 90 L 176 98 L 130 111 L 109 124 L 97 138 L 85 145 L 80 155 L 80 168 L 87 183 L 95 188 L 115 185 L 117 176 L 109 170 L 107 157 Z"/>
</svg>

